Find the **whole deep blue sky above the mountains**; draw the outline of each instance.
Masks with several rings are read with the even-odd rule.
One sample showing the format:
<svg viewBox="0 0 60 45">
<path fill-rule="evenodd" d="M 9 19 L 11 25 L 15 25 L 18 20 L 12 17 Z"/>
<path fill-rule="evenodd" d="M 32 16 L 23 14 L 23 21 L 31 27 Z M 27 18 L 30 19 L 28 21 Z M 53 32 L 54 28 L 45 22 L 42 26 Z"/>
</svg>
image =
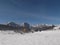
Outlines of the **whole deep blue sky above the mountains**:
<svg viewBox="0 0 60 45">
<path fill-rule="evenodd" d="M 60 0 L 0 0 L 0 23 L 60 24 Z"/>
</svg>

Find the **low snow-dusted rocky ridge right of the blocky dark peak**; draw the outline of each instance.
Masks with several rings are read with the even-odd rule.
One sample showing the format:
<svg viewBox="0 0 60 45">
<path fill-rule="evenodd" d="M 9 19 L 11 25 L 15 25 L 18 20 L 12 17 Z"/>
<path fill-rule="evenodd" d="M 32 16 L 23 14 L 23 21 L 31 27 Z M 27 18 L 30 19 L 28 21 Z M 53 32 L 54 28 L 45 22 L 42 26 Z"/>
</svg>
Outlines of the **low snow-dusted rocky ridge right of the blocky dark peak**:
<svg viewBox="0 0 60 45">
<path fill-rule="evenodd" d="M 31 27 L 32 30 L 34 31 L 45 31 L 45 30 L 52 30 L 55 26 L 54 25 L 51 25 L 51 26 L 48 26 L 48 25 L 39 25 L 39 26 L 36 26 L 36 27 Z"/>
</svg>

